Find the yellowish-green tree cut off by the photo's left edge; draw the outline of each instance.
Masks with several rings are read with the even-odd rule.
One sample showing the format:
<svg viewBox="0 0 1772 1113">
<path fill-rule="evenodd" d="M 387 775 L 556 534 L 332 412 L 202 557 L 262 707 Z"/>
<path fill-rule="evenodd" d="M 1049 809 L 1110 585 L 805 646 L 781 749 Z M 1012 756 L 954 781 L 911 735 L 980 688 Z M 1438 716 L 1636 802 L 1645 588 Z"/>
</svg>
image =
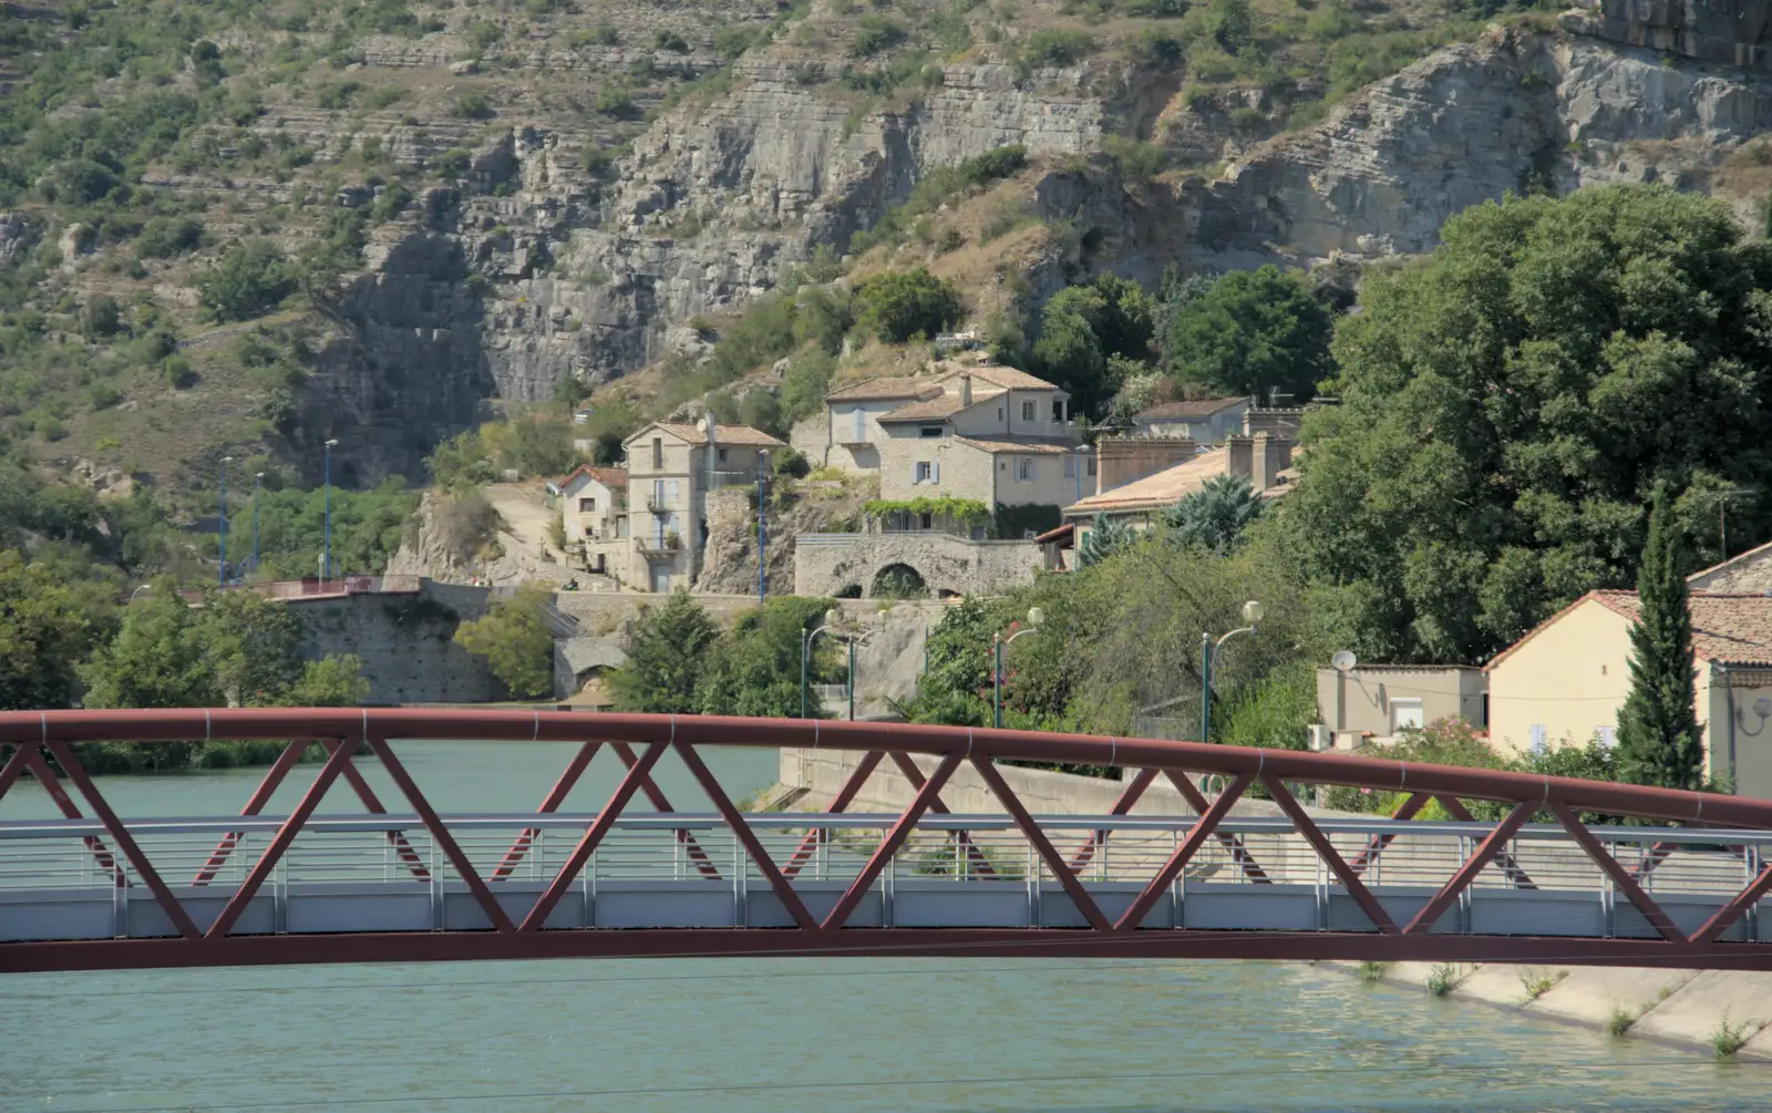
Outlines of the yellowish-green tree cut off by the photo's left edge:
<svg viewBox="0 0 1772 1113">
<path fill-rule="evenodd" d="M 46 562 L 0 549 L 0 711 L 71 707 L 76 666 L 112 627 L 113 604 Z"/>
</svg>

